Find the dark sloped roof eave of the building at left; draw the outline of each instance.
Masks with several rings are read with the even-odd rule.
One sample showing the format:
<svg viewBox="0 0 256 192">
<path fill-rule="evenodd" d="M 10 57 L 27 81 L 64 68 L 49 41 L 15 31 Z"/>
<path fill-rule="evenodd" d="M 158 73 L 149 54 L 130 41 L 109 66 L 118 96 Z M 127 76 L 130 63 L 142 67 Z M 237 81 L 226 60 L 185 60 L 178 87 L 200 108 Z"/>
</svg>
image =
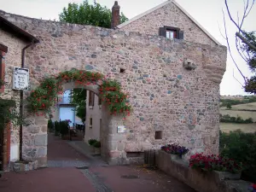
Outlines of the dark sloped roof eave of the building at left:
<svg viewBox="0 0 256 192">
<path fill-rule="evenodd" d="M 0 16 L 0 29 L 3 31 L 14 34 L 17 38 L 21 38 L 27 42 L 38 43 L 38 38 L 32 36 L 32 34 L 24 31 L 19 26 L 15 26 L 15 24 L 11 23 L 9 20 L 6 20 L 2 16 Z"/>
</svg>

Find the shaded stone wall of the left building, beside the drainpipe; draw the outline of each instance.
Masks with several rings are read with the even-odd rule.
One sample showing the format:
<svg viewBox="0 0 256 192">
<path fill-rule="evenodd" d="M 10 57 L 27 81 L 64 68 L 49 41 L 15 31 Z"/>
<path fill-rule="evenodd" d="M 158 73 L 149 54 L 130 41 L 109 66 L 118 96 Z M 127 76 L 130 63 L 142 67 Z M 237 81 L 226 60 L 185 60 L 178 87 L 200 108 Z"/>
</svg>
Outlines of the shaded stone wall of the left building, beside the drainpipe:
<svg viewBox="0 0 256 192">
<path fill-rule="evenodd" d="M 0 93 L 0 98 L 14 100 L 16 102 L 17 111 L 20 110 L 20 91 L 12 90 L 13 85 L 13 69 L 14 67 L 21 67 L 21 49 L 26 46 L 19 38 L 15 38 L 13 35 L 8 32 L 4 32 L 0 29 L 0 44 L 3 44 L 8 47 L 8 53 L 4 55 L 5 62 L 5 76 L 4 76 L 4 92 Z M 6 151 L 8 155 L 7 163 L 9 163 L 9 158 L 11 160 L 19 159 L 19 144 L 20 144 L 20 134 L 19 134 L 19 126 L 10 125 L 10 137 L 7 141 L 10 143 L 9 149 L 10 151 Z M 6 133 L 7 134 L 7 133 Z"/>
</svg>

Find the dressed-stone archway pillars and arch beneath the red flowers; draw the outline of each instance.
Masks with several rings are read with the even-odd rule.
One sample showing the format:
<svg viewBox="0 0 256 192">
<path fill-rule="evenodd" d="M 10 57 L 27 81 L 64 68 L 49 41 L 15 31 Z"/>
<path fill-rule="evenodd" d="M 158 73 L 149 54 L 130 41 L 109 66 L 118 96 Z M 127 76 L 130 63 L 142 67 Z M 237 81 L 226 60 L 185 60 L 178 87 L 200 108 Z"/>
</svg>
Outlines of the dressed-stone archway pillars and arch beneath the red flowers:
<svg viewBox="0 0 256 192">
<path fill-rule="evenodd" d="M 81 85 L 73 82 L 61 84 L 63 90 L 83 88 L 99 95 L 100 84 Z M 23 128 L 22 157 L 24 160 L 38 160 L 38 166 L 47 166 L 47 122 L 45 116 L 30 115 L 29 125 Z M 125 152 L 125 133 L 118 133 L 118 126 L 124 125 L 121 115 L 111 115 L 108 106 L 102 103 L 101 154 L 109 165 L 127 163 Z"/>
</svg>

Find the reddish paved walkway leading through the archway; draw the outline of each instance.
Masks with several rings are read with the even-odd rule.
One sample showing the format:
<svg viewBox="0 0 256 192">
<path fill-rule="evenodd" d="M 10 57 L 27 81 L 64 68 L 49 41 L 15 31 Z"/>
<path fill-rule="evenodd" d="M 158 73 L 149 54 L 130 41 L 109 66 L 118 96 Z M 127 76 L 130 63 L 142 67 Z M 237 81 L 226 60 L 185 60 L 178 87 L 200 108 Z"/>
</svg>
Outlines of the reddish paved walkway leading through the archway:
<svg viewBox="0 0 256 192">
<path fill-rule="evenodd" d="M 50 167 L 31 172 L 7 172 L 0 179 L 0 191 L 195 192 L 162 172 L 150 172 L 137 166 L 107 166 L 98 157 L 87 155 L 89 151 L 79 153 L 71 146 L 80 152 L 83 148 L 90 150 L 83 143 L 69 143 L 49 135 Z"/>
</svg>

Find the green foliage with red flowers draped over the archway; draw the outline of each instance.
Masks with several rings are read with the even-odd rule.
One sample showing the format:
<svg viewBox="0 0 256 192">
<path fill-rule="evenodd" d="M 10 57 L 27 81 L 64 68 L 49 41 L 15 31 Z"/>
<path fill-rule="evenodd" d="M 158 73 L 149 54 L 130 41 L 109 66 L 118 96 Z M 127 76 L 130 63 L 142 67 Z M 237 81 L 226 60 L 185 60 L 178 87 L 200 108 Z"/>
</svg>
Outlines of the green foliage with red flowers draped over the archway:
<svg viewBox="0 0 256 192">
<path fill-rule="evenodd" d="M 58 94 L 62 94 L 61 84 L 74 82 L 76 85 L 98 84 L 99 96 L 108 105 L 111 114 L 130 115 L 131 105 L 127 102 L 128 95 L 121 90 L 120 84 L 113 79 L 106 79 L 101 73 L 83 70 L 61 72 L 55 77 L 45 78 L 30 96 L 26 98 L 30 113 L 44 115 L 51 113 Z"/>
</svg>

